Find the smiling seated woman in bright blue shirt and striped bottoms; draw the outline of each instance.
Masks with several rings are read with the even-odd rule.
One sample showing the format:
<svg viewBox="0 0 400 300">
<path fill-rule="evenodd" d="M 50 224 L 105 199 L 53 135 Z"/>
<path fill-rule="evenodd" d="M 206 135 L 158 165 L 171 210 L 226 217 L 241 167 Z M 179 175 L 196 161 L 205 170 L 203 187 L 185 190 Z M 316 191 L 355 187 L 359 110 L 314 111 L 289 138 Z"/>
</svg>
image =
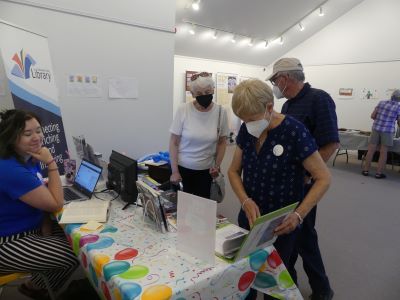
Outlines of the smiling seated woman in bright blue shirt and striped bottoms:
<svg viewBox="0 0 400 300">
<path fill-rule="evenodd" d="M 56 223 L 41 230 L 45 212 L 63 206 L 60 175 L 49 149 L 42 146 L 43 132 L 35 115 L 7 110 L 0 119 L 0 276 L 31 273 L 19 291 L 42 299 L 47 291 L 38 274 L 56 291 L 79 264 Z M 47 187 L 39 162 L 48 168 Z"/>
</svg>

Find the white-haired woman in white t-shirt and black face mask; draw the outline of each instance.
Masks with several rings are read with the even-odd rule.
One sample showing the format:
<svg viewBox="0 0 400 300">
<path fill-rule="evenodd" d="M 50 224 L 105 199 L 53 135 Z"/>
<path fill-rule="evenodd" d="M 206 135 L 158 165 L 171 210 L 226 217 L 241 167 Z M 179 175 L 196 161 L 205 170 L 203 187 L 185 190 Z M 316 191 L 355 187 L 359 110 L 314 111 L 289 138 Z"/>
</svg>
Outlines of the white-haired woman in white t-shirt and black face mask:
<svg viewBox="0 0 400 300">
<path fill-rule="evenodd" d="M 178 108 L 170 128 L 170 180 L 182 182 L 187 193 L 210 198 L 212 178 L 221 172 L 225 155 L 228 118 L 225 109 L 212 101 L 210 73 L 193 74 L 189 88 L 195 100 Z"/>
</svg>

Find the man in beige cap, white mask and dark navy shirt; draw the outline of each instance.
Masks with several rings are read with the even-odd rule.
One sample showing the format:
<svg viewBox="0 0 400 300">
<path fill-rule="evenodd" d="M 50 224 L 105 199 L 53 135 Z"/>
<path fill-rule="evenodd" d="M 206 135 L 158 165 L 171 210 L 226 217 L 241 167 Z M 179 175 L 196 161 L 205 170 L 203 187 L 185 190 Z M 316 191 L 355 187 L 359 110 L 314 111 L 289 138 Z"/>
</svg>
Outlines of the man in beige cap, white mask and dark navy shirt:
<svg viewBox="0 0 400 300">
<path fill-rule="evenodd" d="M 266 79 L 273 85 L 275 97 L 287 98 L 282 113 L 292 116 L 303 123 L 318 146 L 318 152 L 327 162 L 339 147 L 336 107 L 333 99 L 323 90 L 312 88 L 305 81 L 303 66 L 297 58 L 281 58 L 273 65 L 272 74 Z M 306 193 L 314 184 L 313 176 L 307 176 Z M 312 300 L 330 300 L 334 292 L 322 261 L 315 230 L 317 206 L 304 219 L 300 228 L 295 251 L 288 265 L 297 282 L 295 264 L 298 254 L 303 260 L 303 267 L 312 289 Z"/>
</svg>

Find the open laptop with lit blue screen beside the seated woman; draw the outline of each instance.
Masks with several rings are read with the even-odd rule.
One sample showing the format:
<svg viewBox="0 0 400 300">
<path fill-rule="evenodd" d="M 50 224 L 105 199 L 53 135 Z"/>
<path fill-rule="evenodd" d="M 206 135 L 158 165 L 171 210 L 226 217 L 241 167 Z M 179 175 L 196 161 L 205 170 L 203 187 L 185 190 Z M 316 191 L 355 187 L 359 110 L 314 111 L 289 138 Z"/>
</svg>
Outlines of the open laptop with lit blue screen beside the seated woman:
<svg viewBox="0 0 400 300">
<path fill-rule="evenodd" d="M 72 186 L 64 187 L 64 202 L 90 199 L 103 168 L 83 159 Z"/>
</svg>

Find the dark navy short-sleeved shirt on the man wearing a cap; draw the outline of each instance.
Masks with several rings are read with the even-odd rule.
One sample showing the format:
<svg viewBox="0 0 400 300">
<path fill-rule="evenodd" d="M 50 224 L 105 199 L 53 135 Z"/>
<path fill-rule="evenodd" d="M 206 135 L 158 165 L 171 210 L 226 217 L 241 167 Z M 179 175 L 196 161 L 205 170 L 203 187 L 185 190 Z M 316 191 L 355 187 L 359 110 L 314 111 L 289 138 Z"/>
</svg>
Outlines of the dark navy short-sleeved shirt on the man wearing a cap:
<svg viewBox="0 0 400 300">
<path fill-rule="evenodd" d="M 319 148 L 339 143 L 336 106 L 327 92 L 305 83 L 296 97 L 285 102 L 282 113 L 302 122 Z"/>
</svg>

